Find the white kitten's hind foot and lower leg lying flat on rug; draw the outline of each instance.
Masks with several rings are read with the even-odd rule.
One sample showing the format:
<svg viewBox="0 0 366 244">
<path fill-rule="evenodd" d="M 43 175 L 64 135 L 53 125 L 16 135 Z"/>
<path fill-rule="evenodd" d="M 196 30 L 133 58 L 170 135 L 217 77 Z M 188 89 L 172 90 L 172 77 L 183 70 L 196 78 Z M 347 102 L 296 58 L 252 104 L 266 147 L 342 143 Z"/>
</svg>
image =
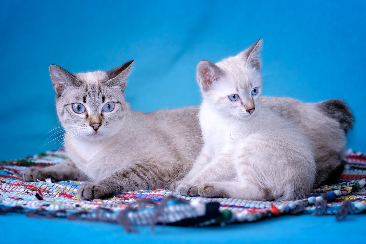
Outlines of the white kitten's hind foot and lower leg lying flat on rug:
<svg viewBox="0 0 366 244">
<path fill-rule="evenodd" d="M 206 198 L 234 198 L 246 200 L 272 200 L 268 189 L 257 184 L 238 181 L 213 181 L 198 187 L 198 194 Z"/>
</svg>

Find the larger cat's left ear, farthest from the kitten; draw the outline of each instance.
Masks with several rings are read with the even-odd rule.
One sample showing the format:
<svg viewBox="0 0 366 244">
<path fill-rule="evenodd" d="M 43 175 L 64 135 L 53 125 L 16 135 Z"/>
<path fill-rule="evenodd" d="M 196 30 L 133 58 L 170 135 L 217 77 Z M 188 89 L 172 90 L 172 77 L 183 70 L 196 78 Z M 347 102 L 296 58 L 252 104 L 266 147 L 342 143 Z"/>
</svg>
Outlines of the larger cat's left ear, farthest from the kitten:
<svg viewBox="0 0 366 244">
<path fill-rule="evenodd" d="M 63 68 L 51 64 L 49 66 L 53 89 L 56 95 L 60 96 L 67 86 L 80 86 L 81 82 Z"/>
</svg>

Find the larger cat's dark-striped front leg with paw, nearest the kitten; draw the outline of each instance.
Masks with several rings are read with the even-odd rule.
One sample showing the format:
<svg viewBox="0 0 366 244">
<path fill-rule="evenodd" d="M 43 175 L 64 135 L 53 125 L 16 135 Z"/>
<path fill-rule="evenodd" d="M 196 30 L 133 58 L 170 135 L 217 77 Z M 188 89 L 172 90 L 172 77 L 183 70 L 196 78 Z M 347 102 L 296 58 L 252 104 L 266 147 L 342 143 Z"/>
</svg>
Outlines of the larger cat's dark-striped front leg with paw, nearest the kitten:
<svg viewBox="0 0 366 244">
<path fill-rule="evenodd" d="M 103 179 L 81 184 L 77 195 L 80 199 L 102 199 L 124 191 L 165 189 L 176 177 L 173 167 L 169 163 L 165 164 L 165 168 L 157 168 L 154 162 L 138 162 Z"/>
</svg>

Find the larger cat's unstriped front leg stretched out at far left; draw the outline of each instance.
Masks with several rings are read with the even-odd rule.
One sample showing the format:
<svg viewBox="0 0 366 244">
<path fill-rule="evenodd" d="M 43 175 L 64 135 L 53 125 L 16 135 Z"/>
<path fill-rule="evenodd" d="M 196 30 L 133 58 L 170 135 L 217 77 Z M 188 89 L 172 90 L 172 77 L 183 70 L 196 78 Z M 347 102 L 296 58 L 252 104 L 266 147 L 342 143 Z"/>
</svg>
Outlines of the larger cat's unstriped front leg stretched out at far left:
<svg viewBox="0 0 366 244">
<path fill-rule="evenodd" d="M 86 180 L 82 173 L 71 160 L 65 160 L 60 164 L 46 168 L 30 167 L 23 173 L 24 181 L 37 181 L 51 179 L 52 182 L 62 180 Z"/>
</svg>

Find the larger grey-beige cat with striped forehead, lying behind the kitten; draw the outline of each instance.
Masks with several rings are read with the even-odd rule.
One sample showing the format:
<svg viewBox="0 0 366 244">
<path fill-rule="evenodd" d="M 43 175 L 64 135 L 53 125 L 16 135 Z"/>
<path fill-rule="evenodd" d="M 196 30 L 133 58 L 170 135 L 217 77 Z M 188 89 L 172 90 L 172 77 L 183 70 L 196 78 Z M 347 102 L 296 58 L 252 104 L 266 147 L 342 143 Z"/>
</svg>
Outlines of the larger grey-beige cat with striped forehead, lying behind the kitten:
<svg viewBox="0 0 366 244">
<path fill-rule="evenodd" d="M 150 113 L 131 110 L 124 89 L 132 63 L 108 72 L 78 74 L 57 65 L 49 67 L 57 116 L 66 129 L 68 159 L 58 165 L 25 170 L 25 181 L 90 180 L 81 184 L 77 195 L 94 199 L 123 191 L 166 188 L 190 170 L 202 148 L 198 106 Z M 318 148 L 315 154 L 320 155 L 317 164 L 321 166 L 317 179 L 339 176 L 345 131 L 352 125 L 352 115 L 343 102 L 305 104 L 272 97 L 261 97 L 261 101 L 278 108 L 281 116 L 314 138 L 312 143 Z M 309 119 L 303 110 L 314 117 Z"/>
</svg>

